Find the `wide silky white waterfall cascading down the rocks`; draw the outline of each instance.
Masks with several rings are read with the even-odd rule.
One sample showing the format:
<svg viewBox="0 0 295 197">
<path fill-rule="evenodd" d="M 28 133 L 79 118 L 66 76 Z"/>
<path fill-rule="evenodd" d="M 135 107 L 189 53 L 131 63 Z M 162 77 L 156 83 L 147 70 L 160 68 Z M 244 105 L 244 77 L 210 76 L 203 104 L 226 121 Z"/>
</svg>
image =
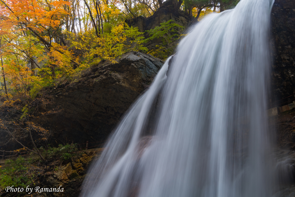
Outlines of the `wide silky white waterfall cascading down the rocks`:
<svg viewBox="0 0 295 197">
<path fill-rule="evenodd" d="M 191 29 L 124 115 L 81 196 L 272 195 L 266 115 L 272 4 L 241 0 Z"/>
</svg>

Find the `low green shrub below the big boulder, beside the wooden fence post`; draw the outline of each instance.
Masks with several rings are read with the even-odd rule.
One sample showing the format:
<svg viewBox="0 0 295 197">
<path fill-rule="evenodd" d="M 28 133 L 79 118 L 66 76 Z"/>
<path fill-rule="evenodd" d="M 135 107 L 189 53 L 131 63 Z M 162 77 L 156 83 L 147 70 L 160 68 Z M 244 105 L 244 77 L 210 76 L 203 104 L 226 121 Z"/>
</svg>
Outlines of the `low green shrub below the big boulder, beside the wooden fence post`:
<svg viewBox="0 0 295 197">
<path fill-rule="evenodd" d="M 47 157 L 59 157 L 63 160 L 68 160 L 72 157 L 76 157 L 78 155 L 77 151 L 77 144 L 66 144 L 64 146 L 59 144 L 58 147 L 48 147 Z"/>
</svg>

